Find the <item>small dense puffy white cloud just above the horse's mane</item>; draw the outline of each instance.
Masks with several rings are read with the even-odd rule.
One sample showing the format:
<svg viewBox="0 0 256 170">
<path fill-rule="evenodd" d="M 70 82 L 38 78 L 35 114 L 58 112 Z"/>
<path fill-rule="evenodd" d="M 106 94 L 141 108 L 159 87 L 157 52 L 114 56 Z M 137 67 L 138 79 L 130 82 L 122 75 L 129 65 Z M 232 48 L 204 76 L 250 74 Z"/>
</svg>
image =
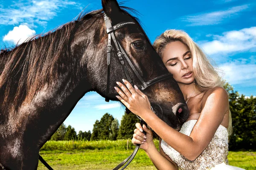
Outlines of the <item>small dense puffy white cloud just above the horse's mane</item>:
<svg viewBox="0 0 256 170">
<path fill-rule="evenodd" d="M 3 37 L 3 41 L 12 41 L 15 44 L 21 44 L 24 42 L 28 37 L 35 34 L 35 30 L 30 29 L 26 25 L 15 26 L 12 31 L 9 31 Z"/>
</svg>

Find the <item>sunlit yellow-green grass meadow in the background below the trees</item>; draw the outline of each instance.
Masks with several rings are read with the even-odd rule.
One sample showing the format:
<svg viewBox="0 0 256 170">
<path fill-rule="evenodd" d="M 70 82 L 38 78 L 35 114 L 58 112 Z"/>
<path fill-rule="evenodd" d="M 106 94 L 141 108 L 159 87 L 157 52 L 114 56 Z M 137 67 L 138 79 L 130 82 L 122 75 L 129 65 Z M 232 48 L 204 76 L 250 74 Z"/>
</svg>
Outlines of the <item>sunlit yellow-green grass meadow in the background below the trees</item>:
<svg viewBox="0 0 256 170">
<path fill-rule="evenodd" d="M 158 147 L 158 140 L 154 140 Z M 127 150 L 128 148 L 128 150 Z M 131 141 L 48 141 L 40 155 L 55 170 L 110 170 L 127 158 L 135 146 Z M 230 151 L 229 164 L 256 170 L 255 151 Z M 127 170 L 156 170 L 143 150 L 139 150 Z M 39 161 L 38 170 L 47 170 Z"/>
</svg>

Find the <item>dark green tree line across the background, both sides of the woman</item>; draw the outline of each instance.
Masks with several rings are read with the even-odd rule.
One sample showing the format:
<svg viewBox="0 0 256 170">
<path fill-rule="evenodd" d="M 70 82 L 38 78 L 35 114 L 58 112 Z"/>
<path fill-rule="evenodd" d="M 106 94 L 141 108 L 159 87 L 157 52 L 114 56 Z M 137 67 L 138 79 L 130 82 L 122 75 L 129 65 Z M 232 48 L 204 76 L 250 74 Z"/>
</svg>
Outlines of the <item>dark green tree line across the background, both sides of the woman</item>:
<svg viewBox="0 0 256 170">
<path fill-rule="evenodd" d="M 224 85 L 229 94 L 232 114 L 233 133 L 230 136 L 229 150 L 256 150 L 256 97 L 240 96 L 229 83 Z M 117 140 L 132 139 L 135 123 L 140 120 L 136 115 L 124 114 L 121 124 L 111 114 L 105 113 L 93 125 L 93 132 L 76 131 L 70 125 L 62 124 L 52 136 L 52 140 Z"/>
</svg>

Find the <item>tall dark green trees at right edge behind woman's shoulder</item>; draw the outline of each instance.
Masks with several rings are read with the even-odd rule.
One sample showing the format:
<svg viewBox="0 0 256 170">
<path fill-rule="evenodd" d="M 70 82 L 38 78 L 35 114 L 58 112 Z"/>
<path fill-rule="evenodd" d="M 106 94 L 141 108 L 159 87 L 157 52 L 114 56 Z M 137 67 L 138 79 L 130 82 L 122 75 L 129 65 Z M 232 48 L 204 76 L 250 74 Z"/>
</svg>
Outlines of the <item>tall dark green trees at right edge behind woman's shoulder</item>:
<svg viewBox="0 0 256 170">
<path fill-rule="evenodd" d="M 234 91 L 229 83 L 224 85 L 229 94 L 233 133 L 229 149 L 256 149 L 256 97 L 246 98 Z"/>
</svg>

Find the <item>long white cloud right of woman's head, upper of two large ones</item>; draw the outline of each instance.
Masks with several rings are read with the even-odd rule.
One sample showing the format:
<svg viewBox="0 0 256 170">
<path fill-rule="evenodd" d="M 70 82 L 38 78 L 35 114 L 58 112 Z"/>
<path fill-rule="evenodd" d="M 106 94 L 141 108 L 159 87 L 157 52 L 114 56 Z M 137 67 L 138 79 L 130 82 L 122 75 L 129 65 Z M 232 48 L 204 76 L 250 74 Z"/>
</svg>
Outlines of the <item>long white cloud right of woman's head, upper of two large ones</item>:
<svg viewBox="0 0 256 170">
<path fill-rule="evenodd" d="M 256 27 L 228 31 L 222 35 L 213 35 L 212 37 L 214 40 L 201 44 L 207 54 L 227 54 L 256 48 Z"/>
</svg>

